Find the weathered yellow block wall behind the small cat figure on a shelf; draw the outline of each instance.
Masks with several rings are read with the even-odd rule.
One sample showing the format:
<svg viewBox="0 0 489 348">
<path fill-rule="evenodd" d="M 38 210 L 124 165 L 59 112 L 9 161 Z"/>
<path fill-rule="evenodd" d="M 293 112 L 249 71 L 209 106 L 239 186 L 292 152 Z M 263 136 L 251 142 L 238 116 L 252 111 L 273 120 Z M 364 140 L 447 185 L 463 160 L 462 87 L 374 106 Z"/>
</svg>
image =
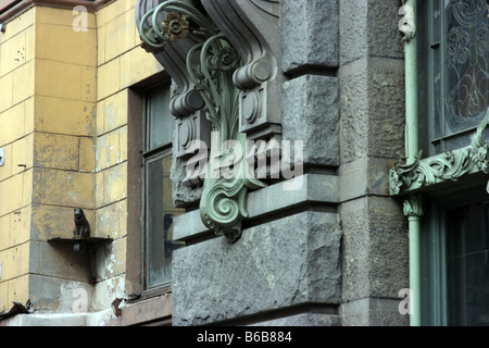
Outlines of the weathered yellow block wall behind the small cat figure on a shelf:
<svg viewBox="0 0 489 348">
<path fill-rule="evenodd" d="M 139 47 L 135 4 L 88 13 L 86 32 L 72 9 L 36 7 L 0 34 L 0 312 L 27 299 L 66 309 L 76 286 L 98 310 L 123 290 L 128 87 L 161 71 Z M 114 239 L 95 287 L 79 257 L 47 243 L 72 236 L 73 208 L 92 236 Z"/>
</svg>

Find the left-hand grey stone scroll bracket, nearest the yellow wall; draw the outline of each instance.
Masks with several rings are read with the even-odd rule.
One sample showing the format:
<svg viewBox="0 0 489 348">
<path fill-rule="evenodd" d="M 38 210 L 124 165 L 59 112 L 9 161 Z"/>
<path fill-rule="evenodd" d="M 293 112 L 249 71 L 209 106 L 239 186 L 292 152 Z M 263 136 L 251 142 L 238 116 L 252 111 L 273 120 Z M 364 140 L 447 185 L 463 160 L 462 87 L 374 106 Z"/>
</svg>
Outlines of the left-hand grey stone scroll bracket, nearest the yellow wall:
<svg viewBox="0 0 489 348">
<path fill-rule="evenodd" d="M 210 140 L 210 124 L 202 112 L 205 104 L 186 69 L 188 50 L 199 44 L 202 38 L 190 33 L 190 23 L 185 21 L 185 17 L 179 17 L 177 12 L 167 18 L 167 12 L 156 12 L 156 8 L 162 2 L 162 0 L 138 1 L 136 22 L 142 30 L 141 47 L 156 58 L 174 82 L 170 104 L 170 110 L 176 119 L 177 130 L 174 156 L 178 163 L 183 164 L 188 158 L 185 150 L 187 144 L 191 140 Z M 184 3 L 188 8 L 193 4 L 191 1 Z M 156 27 L 161 26 L 161 29 L 155 29 L 154 24 Z M 199 185 L 199 182 L 185 184 L 195 186 Z"/>
</svg>

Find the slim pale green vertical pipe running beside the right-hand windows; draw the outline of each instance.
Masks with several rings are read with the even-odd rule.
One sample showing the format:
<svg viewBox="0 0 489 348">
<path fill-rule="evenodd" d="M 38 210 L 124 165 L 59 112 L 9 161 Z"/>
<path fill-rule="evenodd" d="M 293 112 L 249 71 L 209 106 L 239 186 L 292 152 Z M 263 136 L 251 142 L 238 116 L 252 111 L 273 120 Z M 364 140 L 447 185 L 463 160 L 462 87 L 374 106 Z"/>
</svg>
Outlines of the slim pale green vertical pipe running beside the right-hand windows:
<svg viewBox="0 0 489 348">
<path fill-rule="evenodd" d="M 404 34 L 405 53 L 405 154 L 406 164 L 414 163 L 419 151 L 417 120 L 417 40 L 416 14 L 417 0 L 403 0 L 404 21 L 401 32 Z M 421 275 L 419 275 L 419 224 L 423 215 L 422 198 L 411 195 L 404 202 L 404 214 L 409 219 L 410 238 L 410 324 L 421 325 Z"/>
</svg>

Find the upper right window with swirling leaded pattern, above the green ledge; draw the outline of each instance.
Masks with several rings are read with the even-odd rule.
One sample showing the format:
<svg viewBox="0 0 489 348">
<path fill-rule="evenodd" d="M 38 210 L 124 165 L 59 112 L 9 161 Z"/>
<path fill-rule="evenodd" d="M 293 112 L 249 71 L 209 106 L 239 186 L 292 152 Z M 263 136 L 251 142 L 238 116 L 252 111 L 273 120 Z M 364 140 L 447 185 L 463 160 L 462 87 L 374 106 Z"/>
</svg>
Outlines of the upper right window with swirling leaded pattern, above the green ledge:
<svg viewBox="0 0 489 348">
<path fill-rule="evenodd" d="M 471 144 L 489 105 L 486 0 L 418 1 L 419 120 L 429 156 Z"/>
</svg>

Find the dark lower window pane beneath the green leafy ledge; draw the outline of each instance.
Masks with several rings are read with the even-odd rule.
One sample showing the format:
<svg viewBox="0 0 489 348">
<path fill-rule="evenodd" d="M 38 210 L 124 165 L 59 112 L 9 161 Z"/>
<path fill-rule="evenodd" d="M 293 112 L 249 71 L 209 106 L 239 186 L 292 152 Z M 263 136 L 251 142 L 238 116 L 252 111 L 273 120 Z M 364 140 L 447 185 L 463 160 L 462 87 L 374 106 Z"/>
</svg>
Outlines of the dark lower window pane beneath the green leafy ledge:
<svg viewBox="0 0 489 348">
<path fill-rule="evenodd" d="M 489 197 L 484 186 L 428 199 L 422 233 L 424 325 L 489 325 Z"/>
</svg>

